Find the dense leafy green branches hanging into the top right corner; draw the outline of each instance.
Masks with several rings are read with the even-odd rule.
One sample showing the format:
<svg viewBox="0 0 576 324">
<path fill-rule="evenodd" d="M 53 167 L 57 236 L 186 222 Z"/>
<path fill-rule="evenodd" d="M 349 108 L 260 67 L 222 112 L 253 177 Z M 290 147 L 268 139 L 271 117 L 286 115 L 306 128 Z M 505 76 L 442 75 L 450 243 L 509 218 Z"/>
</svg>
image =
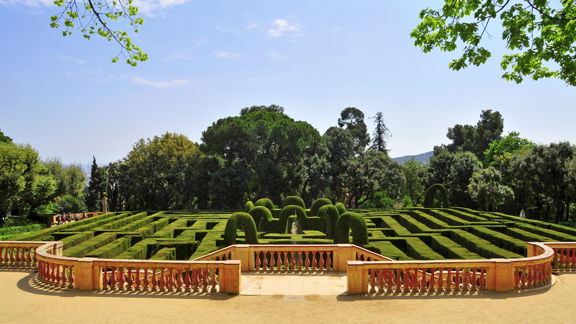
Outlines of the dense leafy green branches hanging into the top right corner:
<svg viewBox="0 0 576 324">
<path fill-rule="evenodd" d="M 446 0 L 442 9 L 424 9 L 419 17 L 422 21 L 410 36 L 423 52 L 435 47 L 454 51 L 459 42 L 464 43 L 464 53 L 449 63 L 450 69 L 486 63 L 491 53 L 480 43 L 483 37 L 491 38 L 488 24 L 499 19 L 502 39 L 513 51 L 502 56 L 502 69 L 511 67 L 502 78 L 520 83 L 524 77 L 558 77 L 576 85 L 574 1 Z M 552 67 L 550 61 L 555 63 Z"/>
</svg>

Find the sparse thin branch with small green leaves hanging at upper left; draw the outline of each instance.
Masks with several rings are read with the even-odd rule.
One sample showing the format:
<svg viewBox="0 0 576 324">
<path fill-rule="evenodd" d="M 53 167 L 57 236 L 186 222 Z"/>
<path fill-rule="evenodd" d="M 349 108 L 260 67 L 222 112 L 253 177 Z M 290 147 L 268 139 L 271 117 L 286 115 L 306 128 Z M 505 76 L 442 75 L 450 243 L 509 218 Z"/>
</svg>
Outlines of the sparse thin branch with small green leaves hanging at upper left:
<svg viewBox="0 0 576 324">
<path fill-rule="evenodd" d="M 75 0 L 56 0 L 56 6 L 61 7 L 62 12 L 50 17 L 50 27 L 60 28 L 63 36 L 72 35 L 72 30 L 78 28 L 86 39 L 94 34 L 100 35 L 110 42 L 115 40 L 120 45 L 120 52 L 112 62 L 118 62 L 120 56 L 126 58 L 126 63 L 137 66 L 138 62 L 148 59 L 148 54 L 142 52 L 141 48 L 132 43 L 128 37 L 128 32 L 114 30 L 109 27 L 109 22 L 127 19 L 134 32 L 138 32 L 144 19 L 135 17 L 138 14 L 138 7 L 132 5 L 132 0 L 100 1 L 84 0 L 81 5 Z M 60 23 L 63 26 L 60 27 Z"/>
</svg>

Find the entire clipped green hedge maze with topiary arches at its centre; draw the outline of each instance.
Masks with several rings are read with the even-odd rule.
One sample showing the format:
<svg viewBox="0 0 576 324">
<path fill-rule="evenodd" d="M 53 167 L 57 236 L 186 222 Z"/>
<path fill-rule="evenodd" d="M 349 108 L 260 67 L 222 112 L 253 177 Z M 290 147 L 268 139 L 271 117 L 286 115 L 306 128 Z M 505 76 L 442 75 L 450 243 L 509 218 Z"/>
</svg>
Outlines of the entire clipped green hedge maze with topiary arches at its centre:
<svg viewBox="0 0 576 324">
<path fill-rule="evenodd" d="M 296 229 L 292 233 L 292 229 Z M 13 240 L 59 240 L 65 257 L 188 260 L 230 244 L 353 243 L 396 260 L 526 257 L 526 242 L 576 242 L 576 229 L 465 208 L 346 211 L 287 197 L 244 211 L 115 212 Z"/>
</svg>

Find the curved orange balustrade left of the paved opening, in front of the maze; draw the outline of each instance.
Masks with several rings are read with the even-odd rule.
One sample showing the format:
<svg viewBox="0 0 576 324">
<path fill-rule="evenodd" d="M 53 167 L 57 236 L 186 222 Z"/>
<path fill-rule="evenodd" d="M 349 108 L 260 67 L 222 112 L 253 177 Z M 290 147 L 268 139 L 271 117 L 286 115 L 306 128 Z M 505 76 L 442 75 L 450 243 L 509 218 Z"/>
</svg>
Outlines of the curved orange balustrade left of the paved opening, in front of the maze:
<svg viewBox="0 0 576 324">
<path fill-rule="evenodd" d="M 62 257 L 62 242 L 36 248 L 39 277 L 62 288 L 241 291 L 240 260 L 157 261 Z M 217 288 L 218 284 L 218 288 Z"/>
</svg>

